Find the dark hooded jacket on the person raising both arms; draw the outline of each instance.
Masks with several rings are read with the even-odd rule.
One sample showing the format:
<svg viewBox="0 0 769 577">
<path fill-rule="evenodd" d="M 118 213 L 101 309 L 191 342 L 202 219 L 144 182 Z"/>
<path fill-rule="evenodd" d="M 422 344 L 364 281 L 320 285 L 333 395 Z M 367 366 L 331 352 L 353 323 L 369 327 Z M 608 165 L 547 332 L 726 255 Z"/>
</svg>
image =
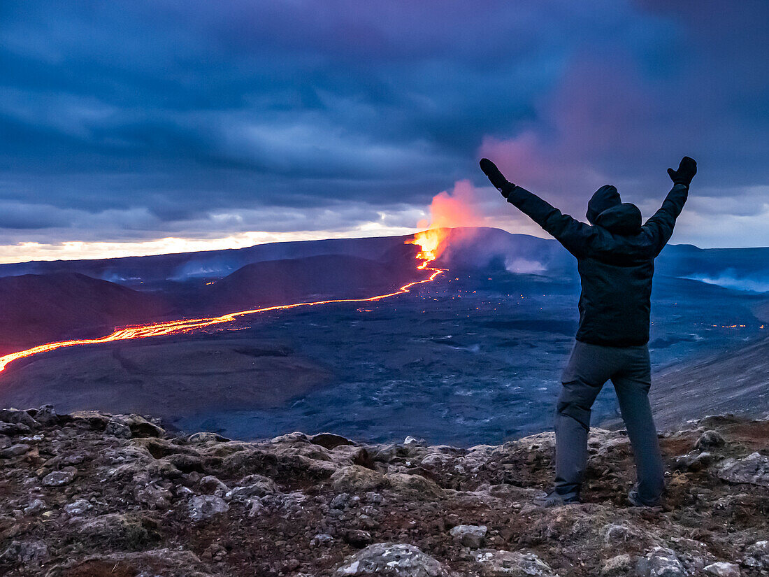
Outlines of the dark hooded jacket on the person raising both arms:
<svg viewBox="0 0 769 577">
<path fill-rule="evenodd" d="M 641 211 L 605 185 L 588 203 L 586 225 L 515 186 L 511 202 L 577 257 L 582 282 L 576 339 L 595 345 L 633 346 L 649 341 L 654 258 L 671 238 L 688 195 L 674 185 L 661 208 L 641 225 Z"/>
</svg>

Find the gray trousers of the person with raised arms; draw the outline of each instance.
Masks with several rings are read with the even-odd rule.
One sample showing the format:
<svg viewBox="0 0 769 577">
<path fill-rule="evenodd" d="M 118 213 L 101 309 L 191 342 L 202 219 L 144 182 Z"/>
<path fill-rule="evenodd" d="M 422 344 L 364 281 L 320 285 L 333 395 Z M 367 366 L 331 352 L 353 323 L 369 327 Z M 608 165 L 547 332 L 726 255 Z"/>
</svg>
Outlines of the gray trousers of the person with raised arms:
<svg viewBox="0 0 769 577">
<path fill-rule="evenodd" d="M 588 462 L 591 407 L 609 379 L 633 445 L 638 497 L 644 503 L 656 504 L 664 489 L 664 470 L 649 405 L 647 345 L 608 347 L 574 342 L 561 375 L 563 386 L 555 411 L 555 490 L 561 495 L 579 496 Z"/>
</svg>

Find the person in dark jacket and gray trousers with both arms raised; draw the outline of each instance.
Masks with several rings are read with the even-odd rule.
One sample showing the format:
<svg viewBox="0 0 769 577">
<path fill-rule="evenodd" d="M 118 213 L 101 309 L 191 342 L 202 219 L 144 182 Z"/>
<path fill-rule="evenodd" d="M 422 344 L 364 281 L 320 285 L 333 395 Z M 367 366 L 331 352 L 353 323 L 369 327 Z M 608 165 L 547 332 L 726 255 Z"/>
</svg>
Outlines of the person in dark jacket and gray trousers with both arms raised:
<svg viewBox="0 0 769 577">
<path fill-rule="evenodd" d="M 621 202 L 612 185 L 598 188 L 588 202 L 588 225 L 508 182 L 488 158 L 481 159 L 481 170 L 508 202 L 577 258 L 581 279 L 579 327 L 561 373 L 555 410 L 554 489 L 534 502 L 546 507 L 580 502 L 591 407 L 611 380 L 638 476 L 628 500 L 636 506 L 661 505 L 664 468 L 648 399 L 651 278 L 654 258 L 673 234 L 697 163 L 684 156 L 677 170 L 667 169 L 673 188 L 643 225 L 638 207 Z"/>
</svg>

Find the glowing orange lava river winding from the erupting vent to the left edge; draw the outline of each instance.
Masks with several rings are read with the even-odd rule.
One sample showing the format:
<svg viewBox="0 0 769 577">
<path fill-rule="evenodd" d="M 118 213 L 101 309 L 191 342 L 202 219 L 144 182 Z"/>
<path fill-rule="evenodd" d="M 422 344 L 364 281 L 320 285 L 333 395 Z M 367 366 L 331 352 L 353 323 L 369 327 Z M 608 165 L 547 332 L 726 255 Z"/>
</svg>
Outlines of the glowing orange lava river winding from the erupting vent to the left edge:
<svg viewBox="0 0 769 577">
<path fill-rule="evenodd" d="M 422 234 L 422 233 L 419 233 L 419 234 Z M 0 357 L 0 372 L 2 372 L 5 369 L 5 367 L 8 365 L 9 362 L 15 361 L 17 359 L 25 359 L 26 357 L 37 355 L 38 353 L 41 353 L 41 352 L 48 352 L 48 351 L 53 351 L 55 349 L 62 349 L 64 347 L 71 347 L 76 345 L 98 345 L 102 342 L 127 341 L 129 339 L 146 339 L 148 337 L 153 337 L 153 336 L 178 335 L 185 332 L 192 332 L 197 329 L 205 329 L 206 327 L 209 327 L 211 325 L 221 325 L 228 322 L 234 322 L 235 319 L 237 319 L 238 317 L 245 316 L 245 315 L 253 315 L 257 312 L 296 309 L 301 306 L 328 305 L 333 302 L 371 302 L 371 301 L 378 301 L 381 299 L 388 299 L 396 295 L 403 295 L 406 292 L 410 292 L 410 289 L 412 286 L 422 285 L 426 282 L 432 282 L 435 280 L 435 278 L 438 275 L 444 272 L 442 268 L 428 267 L 428 263 L 431 262 L 435 257 L 431 256 L 431 254 L 433 253 L 429 252 L 425 248 L 425 245 L 421 243 L 421 241 L 414 240 L 414 241 L 407 241 L 407 242 L 411 244 L 418 244 L 422 247 L 422 250 L 417 256 L 417 258 L 419 258 L 423 262 L 420 265 L 418 265 L 417 268 L 420 270 L 431 271 L 432 274 L 428 278 L 424 278 L 421 281 L 409 282 L 408 284 L 401 286 L 401 288 L 398 288 L 397 291 L 388 292 L 386 295 L 370 296 L 367 299 L 331 299 L 328 301 L 295 302 L 291 305 L 265 306 L 261 309 L 231 312 L 227 315 L 209 317 L 206 319 L 181 319 L 178 321 L 158 322 L 152 325 L 128 326 L 123 329 L 116 329 L 115 332 L 113 332 L 111 335 L 100 337 L 98 339 L 82 339 L 82 340 L 73 340 L 73 341 L 49 342 L 48 344 L 38 345 L 36 347 L 33 347 L 32 349 L 27 349 L 25 351 L 12 352 L 10 355 L 5 355 Z M 434 249 L 435 248 L 438 248 L 437 244 L 434 246 Z"/>
</svg>

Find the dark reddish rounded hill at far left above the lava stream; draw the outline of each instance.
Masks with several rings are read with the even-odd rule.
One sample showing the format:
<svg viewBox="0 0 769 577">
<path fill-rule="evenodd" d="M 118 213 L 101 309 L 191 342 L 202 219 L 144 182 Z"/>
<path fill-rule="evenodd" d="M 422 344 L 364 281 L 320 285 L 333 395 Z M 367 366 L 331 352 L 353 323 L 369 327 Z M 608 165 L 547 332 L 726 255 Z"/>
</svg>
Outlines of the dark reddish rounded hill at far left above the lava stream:
<svg viewBox="0 0 769 577">
<path fill-rule="evenodd" d="M 102 335 L 166 312 L 156 295 L 74 272 L 0 278 L 0 353 Z"/>
</svg>

